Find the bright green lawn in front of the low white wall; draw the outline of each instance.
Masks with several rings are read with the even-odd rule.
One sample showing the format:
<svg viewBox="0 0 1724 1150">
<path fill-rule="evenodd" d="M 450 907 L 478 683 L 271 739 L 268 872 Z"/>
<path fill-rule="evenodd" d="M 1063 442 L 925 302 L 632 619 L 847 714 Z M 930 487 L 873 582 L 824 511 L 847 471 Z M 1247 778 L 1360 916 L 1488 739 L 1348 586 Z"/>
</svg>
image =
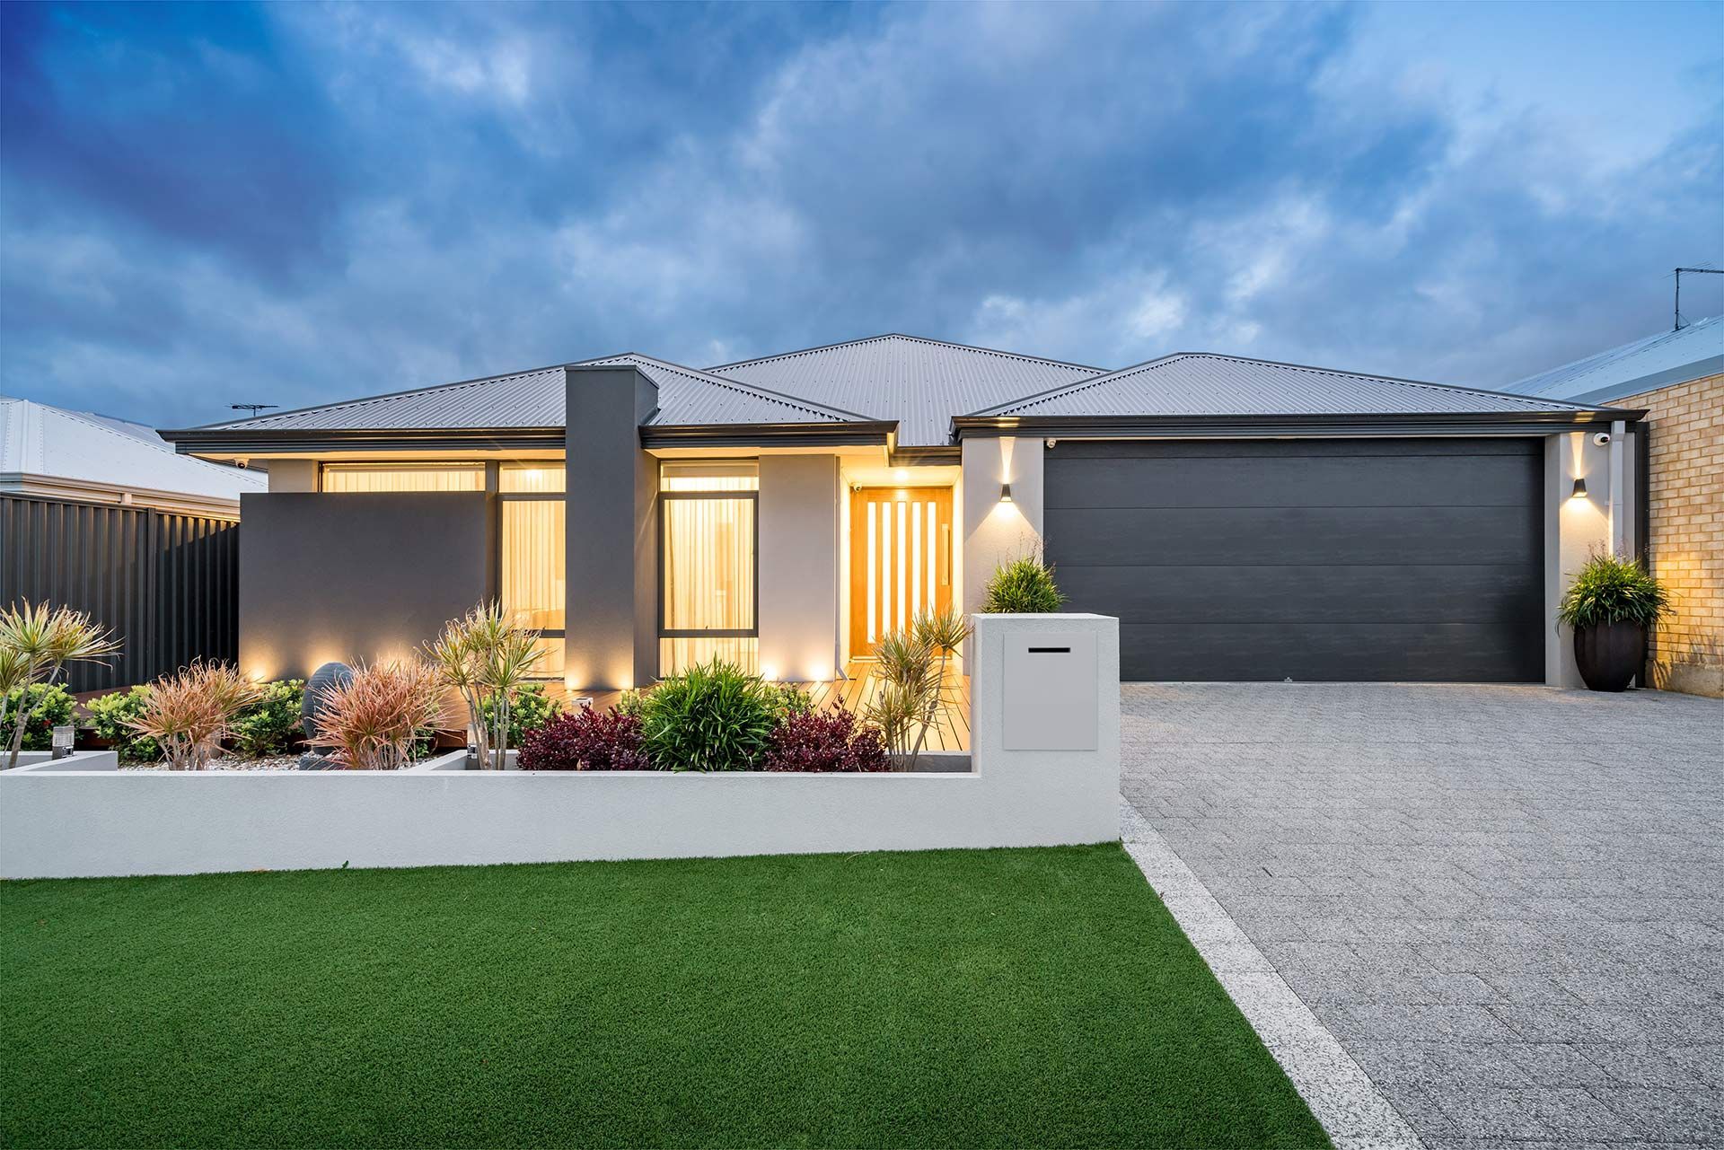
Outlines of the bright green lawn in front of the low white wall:
<svg viewBox="0 0 1724 1150">
<path fill-rule="evenodd" d="M 0 883 L 0 1145 L 1327 1145 L 1117 847 Z"/>
</svg>

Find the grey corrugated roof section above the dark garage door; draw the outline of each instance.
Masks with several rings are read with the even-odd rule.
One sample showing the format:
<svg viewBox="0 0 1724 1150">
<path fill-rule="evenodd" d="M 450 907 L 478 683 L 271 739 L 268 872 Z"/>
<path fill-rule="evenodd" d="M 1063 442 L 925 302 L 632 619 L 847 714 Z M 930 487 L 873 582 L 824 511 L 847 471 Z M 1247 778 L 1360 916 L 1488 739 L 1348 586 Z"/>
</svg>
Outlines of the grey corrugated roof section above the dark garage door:
<svg viewBox="0 0 1724 1150">
<path fill-rule="evenodd" d="M 1574 403 L 1214 353 L 1177 353 L 978 416 L 1567 412 Z"/>
</svg>

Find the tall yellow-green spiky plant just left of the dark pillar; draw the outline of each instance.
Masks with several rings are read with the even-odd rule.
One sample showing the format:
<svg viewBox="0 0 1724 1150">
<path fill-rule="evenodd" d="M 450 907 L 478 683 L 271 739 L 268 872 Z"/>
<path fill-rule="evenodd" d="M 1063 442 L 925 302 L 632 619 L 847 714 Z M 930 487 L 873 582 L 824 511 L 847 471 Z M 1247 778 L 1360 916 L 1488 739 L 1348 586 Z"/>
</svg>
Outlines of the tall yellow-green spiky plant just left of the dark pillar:
<svg viewBox="0 0 1724 1150">
<path fill-rule="evenodd" d="M 443 634 L 428 643 L 426 652 L 443 681 L 467 703 L 467 729 L 479 766 L 502 769 L 509 755 L 509 717 L 515 695 L 545 655 L 540 633 L 522 628 L 495 602 L 479 603 L 445 624 Z"/>
</svg>

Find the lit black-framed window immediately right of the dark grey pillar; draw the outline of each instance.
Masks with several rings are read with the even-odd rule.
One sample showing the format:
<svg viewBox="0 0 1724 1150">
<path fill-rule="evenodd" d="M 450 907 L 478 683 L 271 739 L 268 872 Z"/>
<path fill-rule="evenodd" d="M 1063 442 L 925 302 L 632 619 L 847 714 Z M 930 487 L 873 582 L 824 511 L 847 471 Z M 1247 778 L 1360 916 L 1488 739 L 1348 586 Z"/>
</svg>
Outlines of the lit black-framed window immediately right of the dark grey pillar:
<svg viewBox="0 0 1724 1150">
<path fill-rule="evenodd" d="M 759 488 L 753 462 L 662 466 L 660 674 L 712 657 L 757 671 Z"/>
</svg>

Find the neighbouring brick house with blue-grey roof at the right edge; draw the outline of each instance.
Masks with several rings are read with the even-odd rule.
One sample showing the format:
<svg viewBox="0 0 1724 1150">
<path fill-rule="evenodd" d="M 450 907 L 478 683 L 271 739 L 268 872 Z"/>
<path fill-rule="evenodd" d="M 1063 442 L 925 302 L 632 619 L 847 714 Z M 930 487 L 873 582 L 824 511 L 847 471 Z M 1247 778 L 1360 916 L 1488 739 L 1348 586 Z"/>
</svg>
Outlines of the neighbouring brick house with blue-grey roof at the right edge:
<svg viewBox="0 0 1724 1150">
<path fill-rule="evenodd" d="M 1507 390 L 1645 409 L 1636 460 L 1640 533 L 1626 543 L 1646 557 L 1676 600 L 1676 616 L 1652 636 L 1648 678 L 1665 690 L 1724 697 L 1724 316 L 1588 355 Z"/>
</svg>

